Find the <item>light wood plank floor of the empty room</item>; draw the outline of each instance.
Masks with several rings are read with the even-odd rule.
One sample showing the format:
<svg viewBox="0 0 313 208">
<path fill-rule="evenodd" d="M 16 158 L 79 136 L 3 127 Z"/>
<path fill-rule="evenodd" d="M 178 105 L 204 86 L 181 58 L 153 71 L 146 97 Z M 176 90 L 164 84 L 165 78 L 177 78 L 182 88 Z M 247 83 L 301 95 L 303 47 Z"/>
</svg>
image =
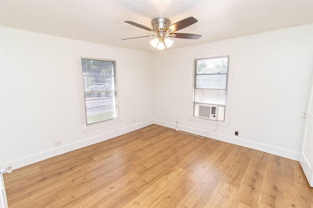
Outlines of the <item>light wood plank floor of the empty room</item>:
<svg viewBox="0 0 313 208">
<path fill-rule="evenodd" d="M 3 176 L 9 208 L 313 208 L 298 162 L 158 125 Z"/>
</svg>

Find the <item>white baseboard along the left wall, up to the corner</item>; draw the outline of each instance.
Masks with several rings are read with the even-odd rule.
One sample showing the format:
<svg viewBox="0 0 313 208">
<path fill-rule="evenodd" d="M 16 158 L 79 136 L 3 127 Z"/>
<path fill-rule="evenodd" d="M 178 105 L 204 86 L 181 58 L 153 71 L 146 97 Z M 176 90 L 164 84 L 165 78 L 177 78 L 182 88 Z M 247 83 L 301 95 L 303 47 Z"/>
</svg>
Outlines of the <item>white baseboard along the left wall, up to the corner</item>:
<svg viewBox="0 0 313 208">
<path fill-rule="evenodd" d="M 43 151 L 43 152 L 40 152 L 37 154 L 29 155 L 27 157 L 23 157 L 23 158 L 20 158 L 18 160 L 15 160 L 15 161 L 10 161 L 10 162 L 7 162 L 5 164 L 1 164 L 0 167 L 7 167 L 7 166 L 11 165 L 13 169 L 18 169 L 18 168 L 21 168 L 23 166 L 45 160 L 47 158 L 66 153 L 68 151 L 77 150 L 77 149 L 80 149 L 83 147 L 87 147 L 89 145 L 96 144 L 98 142 L 102 142 L 102 141 L 111 139 L 111 138 L 116 137 L 116 136 L 123 135 L 123 134 L 128 133 L 128 132 L 133 132 L 137 129 L 143 128 L 143 127 L 151 125 L 153 123 L 154 123 L 153 120 L 150 120 L 150 121 L 138 123 L 138 124 L 135 124 L 135 125 L 132 125 L 129 127 L 125 127 L 123 129 L 118 129 L 116 131 L 106 132 L 106 133 L 103 133 L 101 135 L 90 137 L 90 138 L 85 139 L 85 140 L 81 140 L 81 141 L 78 141 L 75 143 L 60 146 L 58 148 L 54 148 L 54 149 L 51 149 L 48 151 Z"/>
</svg>

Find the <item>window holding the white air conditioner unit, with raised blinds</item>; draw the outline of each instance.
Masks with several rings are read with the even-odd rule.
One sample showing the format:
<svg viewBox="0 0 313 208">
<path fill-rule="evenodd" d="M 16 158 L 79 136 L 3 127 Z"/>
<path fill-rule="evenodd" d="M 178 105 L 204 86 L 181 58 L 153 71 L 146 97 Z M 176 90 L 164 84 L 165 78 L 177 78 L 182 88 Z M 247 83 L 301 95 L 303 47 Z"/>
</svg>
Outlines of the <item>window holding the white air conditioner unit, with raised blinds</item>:
<svg viewBox="0 0 313 208">
<path fill-rule="evenodd" d="M 224 121 L 228 58 L 229 56 L 195 59 L 194 116 Z"/>
</svg>

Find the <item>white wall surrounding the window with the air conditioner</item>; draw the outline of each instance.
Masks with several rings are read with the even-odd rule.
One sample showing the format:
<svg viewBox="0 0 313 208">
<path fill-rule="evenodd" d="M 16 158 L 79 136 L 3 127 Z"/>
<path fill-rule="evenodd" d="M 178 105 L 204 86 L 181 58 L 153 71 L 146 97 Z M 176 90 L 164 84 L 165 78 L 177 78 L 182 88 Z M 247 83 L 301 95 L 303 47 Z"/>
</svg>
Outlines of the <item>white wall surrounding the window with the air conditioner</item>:
<svg viewBox="0 0 313 208">
<path fill-rule="evenodd" d="M 298 160 L 305 121 L 301 113 L 313 72 L 312 24 L 156 53 L 155 123 L 176 128 L 179 119 L 180 130 L 198 134 L 214 129 L 188 119 L 192 59 L 224 51 L 234 54 L 229 127 L 205 136 Z"/>
</svg>

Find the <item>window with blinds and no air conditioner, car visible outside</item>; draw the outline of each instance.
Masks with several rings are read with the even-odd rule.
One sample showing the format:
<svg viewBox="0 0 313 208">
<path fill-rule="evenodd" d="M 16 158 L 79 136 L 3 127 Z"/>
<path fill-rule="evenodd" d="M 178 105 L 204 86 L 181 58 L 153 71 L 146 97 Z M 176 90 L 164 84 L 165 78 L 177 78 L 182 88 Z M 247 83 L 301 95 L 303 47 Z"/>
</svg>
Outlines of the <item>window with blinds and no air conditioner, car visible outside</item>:
<svg viewBox="0 0 313 208">
<path fill-rule="evenodd" d="M 117 118 L 115 61 L 82 57 L 81 63 L 86 124 Z"/>
</svg>

